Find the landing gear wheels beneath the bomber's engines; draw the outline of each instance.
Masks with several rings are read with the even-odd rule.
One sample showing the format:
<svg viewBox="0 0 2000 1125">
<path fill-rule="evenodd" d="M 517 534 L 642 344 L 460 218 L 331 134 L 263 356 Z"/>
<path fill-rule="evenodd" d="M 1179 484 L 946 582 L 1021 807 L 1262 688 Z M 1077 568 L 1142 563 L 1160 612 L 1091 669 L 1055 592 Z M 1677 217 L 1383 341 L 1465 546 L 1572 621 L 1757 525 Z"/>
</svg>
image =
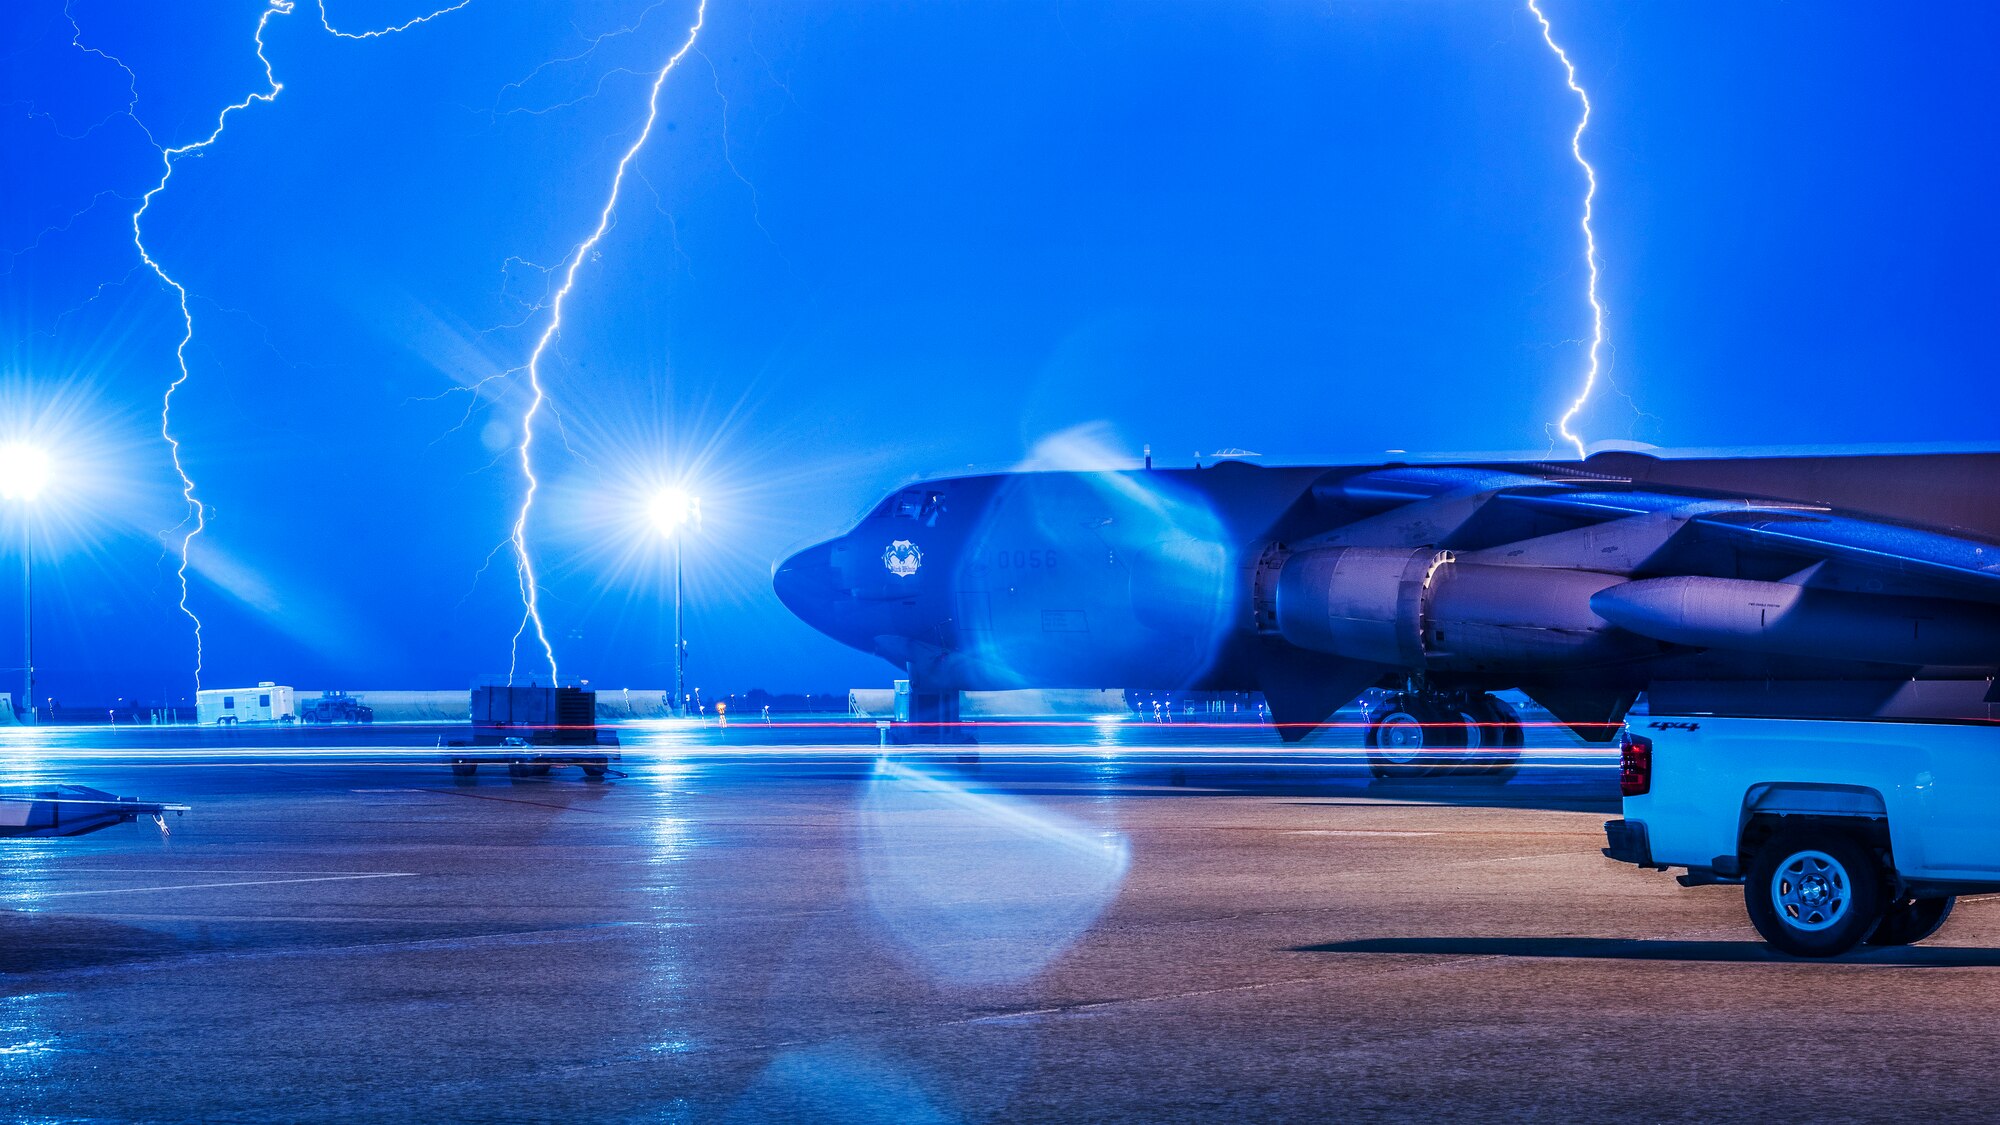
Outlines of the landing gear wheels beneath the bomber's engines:
<svg viewBox="0 0 2000 1125">
<path fill-rule="evenodd" d="M 1404 691 L 1368 715 L 1368 771 L 1508 777 L 1524 741 L 1520 715 L 1492 695 Z"/>
</svg>

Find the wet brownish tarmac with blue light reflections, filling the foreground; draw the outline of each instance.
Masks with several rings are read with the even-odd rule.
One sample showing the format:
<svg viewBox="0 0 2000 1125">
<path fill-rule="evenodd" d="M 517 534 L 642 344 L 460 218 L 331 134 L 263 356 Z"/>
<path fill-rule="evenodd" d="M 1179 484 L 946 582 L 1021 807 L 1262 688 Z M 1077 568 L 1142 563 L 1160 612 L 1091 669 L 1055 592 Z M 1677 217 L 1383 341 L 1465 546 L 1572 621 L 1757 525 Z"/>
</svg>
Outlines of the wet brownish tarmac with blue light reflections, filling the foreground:
<svg viewBox="0 0 2000 1125">
<path fill-rule="evenodd" d="M 0 841 L 0 1119 L 1992 1115 L 2000 907 L 1786 961 L 1598 855 L 1598 751 L 870 737 L 628 735 L 592 783 L 10 735 L 0 789 L 192 811 Z"/>
</svg>

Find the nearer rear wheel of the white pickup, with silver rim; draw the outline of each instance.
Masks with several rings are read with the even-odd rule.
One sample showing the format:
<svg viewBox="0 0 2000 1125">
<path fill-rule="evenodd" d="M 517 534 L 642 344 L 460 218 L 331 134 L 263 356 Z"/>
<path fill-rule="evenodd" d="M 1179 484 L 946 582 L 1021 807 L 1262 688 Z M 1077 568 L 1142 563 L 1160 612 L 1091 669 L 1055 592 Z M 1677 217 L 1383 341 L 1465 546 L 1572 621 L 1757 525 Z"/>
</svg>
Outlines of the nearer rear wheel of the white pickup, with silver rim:
<svg viewBox="0 0 2000 1125">
<path fill-rule="evenodd" d="M 1780 951 L 1840 957 L 1882 921 L 1882 879 L 1874 855 L 1854 837 L 1790 829 L 1750 861 L 1744 907 Z"/>
</svg>

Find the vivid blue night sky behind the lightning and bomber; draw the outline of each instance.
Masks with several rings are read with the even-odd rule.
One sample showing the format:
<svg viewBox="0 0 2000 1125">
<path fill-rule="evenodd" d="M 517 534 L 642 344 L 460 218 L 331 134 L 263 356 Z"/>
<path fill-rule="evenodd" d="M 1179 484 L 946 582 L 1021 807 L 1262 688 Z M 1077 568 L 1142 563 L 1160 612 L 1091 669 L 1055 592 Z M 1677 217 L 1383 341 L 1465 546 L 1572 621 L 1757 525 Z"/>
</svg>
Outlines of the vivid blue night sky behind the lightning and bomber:
<svg viewBox="0 0 2000 1125">
<path fill-rule="evenodd" d="M 44 693 L 188 695 L 180 316 L 132 212 L 154 142 L 264 88 L 264 6 L 74 0 L 132 82 L 60 0 L 4 8 L 0 436 L 56 484 L 4 512 L 0 637 L 32 518 Z M 426 10 L 330 0 L 350 30 Z M 2000 444 L 2000 8 L 1546 10 L 1596 106 L 1588 438 Z M 692 16 L 272 18 L 284 90 L 146 214 L 192 294 L 204 683 L 506 671 L 508 372 Z M 544 368 L 528 538 L 564 677 L 670 683 L 664 480 L 704 498 L 690 683 L 820 691 L 892 673 L 792 621 L 770 565 L 912 474 L 1546 450 L 1588 334 L 1576 114 L 1524 4 L 714 0 Z"/>
</svg>

